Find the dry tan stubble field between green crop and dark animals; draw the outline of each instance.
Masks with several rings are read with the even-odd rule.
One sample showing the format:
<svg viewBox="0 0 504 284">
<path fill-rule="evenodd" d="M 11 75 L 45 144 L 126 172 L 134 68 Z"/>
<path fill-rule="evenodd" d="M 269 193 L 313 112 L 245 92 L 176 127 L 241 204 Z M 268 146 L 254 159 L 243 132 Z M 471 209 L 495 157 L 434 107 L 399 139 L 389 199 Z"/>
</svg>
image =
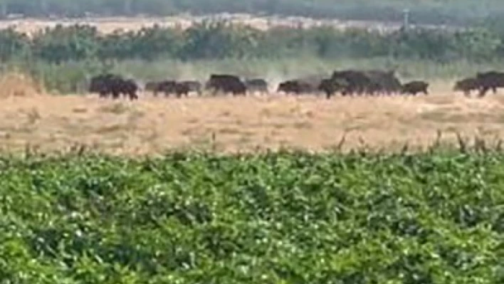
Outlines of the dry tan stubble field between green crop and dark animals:
<svg viewBox="0 0 504 284">
<path fill-rule="evenodd" d="M 12 79 L 11 79 L 12 80 Z M 8 84 L 10 83 L 10 85 Z M 411 149 L 456 133 L 504 137 L 504 97 L 463 98 L 448 85 L 416 98 L 152 98 L 137 102 L 95 96 L 39 95 L 0 82 L 0 149 L 41 151 L 85 145 L 110 154 L 157 154 L 174 148 L 224 152 L 293 147 L 316 151 Z M 23 84 L 21 84 L 23 85 Z M 11 92 L 6 92 L 11 90 Z"/>
</svg>

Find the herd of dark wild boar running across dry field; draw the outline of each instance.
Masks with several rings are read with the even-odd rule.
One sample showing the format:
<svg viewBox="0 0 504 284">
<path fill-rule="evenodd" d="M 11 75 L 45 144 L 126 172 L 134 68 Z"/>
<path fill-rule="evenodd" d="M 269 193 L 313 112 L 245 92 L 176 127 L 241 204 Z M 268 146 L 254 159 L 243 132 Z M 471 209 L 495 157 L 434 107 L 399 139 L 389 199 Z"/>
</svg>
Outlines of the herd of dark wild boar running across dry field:
<svg viewBox="0 0 504 284">
<path fill-rule="evenodd" d="M 471 91 L 479 91 L 483 97 L 488 90 L 497 92 L 504 87 L 504 73 L 489 71 L 476 73 L 474 77 L 456 81 L 454 91 L 470 95 Z M 175 95 L 177 98 L 188 96 L 189 93 L 201 95 L 203 90 L 216 95 L 217 93 L 231 93 L 232 95 L 246 95 L 247 93 L 269 93 L 268 82 L 262 78 L 242 80 L 236 75 L 212 74 L 206 83 L 197 80 L 161 80 L 145 84 L 145 91 L 154 96 L 164 93 L 165 96 Z M 278 93 L 293 95 L 324 94 L 329 99 L 333 95 L 417 95 L 429 94 L 429 83 L 423 80 L 413 80 L 401 83 L 394 71 L 384 70 L 336 70 L 329 78 L 308 76 L 285 80 L 278 84 Z M 90 81 L 90 93 L 98 93 L 100 98 L 120 98 L 121 95 L 130 100 L 137 100 L 137 92 L 141 88 L 132 79 L 122 78 L 121 75 L 103 74 L 95 76 Z"/>
</svg>

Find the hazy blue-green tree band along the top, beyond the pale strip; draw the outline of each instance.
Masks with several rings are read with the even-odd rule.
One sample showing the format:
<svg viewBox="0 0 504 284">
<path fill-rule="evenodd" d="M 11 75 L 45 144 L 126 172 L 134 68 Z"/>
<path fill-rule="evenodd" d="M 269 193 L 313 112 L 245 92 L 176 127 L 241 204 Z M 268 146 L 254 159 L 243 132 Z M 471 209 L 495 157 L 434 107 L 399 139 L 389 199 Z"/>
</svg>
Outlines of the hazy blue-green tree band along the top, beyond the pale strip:
<svg viewBox="0 0 504 284">
<path fill-rule="evenodd" d="M 148 14 L 166 16 L 193 14 L 266 13 L 340 19 L 401 20 L 403 9 L 411 10 L 421 23 L 467 24 L 501 18 L 504 14 L 499 0 L 0 0 L 1 14 L 26 16 L 122 16 Z"/>
</svg>

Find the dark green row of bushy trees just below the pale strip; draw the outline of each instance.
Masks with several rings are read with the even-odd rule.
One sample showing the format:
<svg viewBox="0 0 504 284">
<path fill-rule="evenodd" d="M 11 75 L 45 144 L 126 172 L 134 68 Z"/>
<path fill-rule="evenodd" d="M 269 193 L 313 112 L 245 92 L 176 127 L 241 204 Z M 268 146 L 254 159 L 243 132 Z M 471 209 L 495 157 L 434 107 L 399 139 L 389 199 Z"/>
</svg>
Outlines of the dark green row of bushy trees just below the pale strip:
<svg viewBox="0 0 504 284">
<path fill-rule="evenodd" d="M 0 31 L 1 61 L 64 63 L 95 59 L 191 61 L 221 58 L 406 58 L 439 62 L 492 61 L 504 55 L 504 38 L 485 30 L 410 30 L 379 33 L 335 28 L 259 31 L 226 23 L 192 28 L 142 28 L 103 35 L 93 26 L 56 26 L 28 36 Z"/>
</svg>

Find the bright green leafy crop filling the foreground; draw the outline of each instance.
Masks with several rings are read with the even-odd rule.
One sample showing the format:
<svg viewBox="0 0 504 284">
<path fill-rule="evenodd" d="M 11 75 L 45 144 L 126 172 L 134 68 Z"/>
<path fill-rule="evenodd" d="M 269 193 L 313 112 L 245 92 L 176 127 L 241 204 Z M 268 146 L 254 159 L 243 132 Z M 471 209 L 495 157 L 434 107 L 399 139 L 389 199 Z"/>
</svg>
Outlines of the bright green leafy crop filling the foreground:
<svg viewBox="0 0 504 284">
<path fill-rule="evenodd" d="M 504 156 L 4 157 L 2 283 L 504 281 Z"/>
</svg>

